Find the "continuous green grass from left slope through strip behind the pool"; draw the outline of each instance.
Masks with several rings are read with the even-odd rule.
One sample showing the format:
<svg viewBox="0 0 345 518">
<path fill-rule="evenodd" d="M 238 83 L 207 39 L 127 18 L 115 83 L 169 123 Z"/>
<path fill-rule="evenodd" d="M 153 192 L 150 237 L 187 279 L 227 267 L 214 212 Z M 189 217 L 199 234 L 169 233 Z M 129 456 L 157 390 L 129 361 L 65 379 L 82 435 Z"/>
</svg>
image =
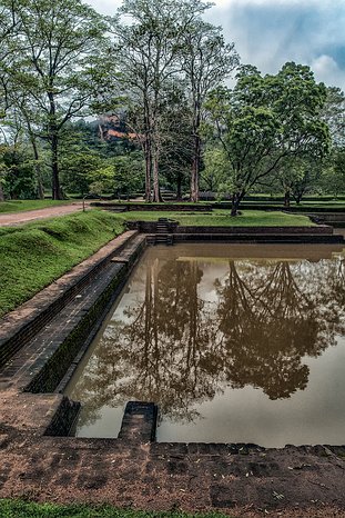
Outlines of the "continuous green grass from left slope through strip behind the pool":
<svg viewBox="0 0 345 518">
<path fill-rule="evenodd" d="M 186 226 L 311 226 L 305 216 L 246 210 L 123 212 L 92 210 L 19 227 L 0 227 L 0 317 L 122 232 L 124 220 L 171 218 Z"/>
</svg>

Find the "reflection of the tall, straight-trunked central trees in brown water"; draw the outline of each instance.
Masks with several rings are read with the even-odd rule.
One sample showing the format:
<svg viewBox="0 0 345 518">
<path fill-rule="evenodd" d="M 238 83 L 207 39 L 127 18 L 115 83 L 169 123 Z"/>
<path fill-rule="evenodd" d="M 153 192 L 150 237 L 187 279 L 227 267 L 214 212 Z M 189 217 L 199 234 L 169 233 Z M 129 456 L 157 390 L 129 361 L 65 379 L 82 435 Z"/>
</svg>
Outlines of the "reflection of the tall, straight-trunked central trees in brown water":
<svg viewBox="0 0 345 518">
<path fill-rule="evenodd" d="M 73 392 L 88 406 L 88 422 L 101 406 L 129 399 L 158 401 L 162 415 L 191 420 L 191 404 L 213 398 L 221 358 L 210 305 L 197 295 L 202 276 L 196 261 L 148 265 L 143 300 L 110 322 Z"/>
</svg>

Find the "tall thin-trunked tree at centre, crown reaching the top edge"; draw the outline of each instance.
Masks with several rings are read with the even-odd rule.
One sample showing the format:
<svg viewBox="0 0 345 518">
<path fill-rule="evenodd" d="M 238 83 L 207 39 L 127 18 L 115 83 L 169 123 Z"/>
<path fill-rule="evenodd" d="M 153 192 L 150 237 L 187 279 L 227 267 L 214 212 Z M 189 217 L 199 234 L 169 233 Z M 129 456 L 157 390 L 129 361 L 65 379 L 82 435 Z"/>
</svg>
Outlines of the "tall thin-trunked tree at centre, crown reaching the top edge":
<svg viewBox="0 0 345 518">
<path fill-rule="evenodd" d="M 139 107 L 136 133 L 145 157 L 145 198 L 160 201 L 159 165 L 166 84 L 182 72 L 185 34 L 210 7 L 201 0 L 124 0 L 113 21 L 120 81 Z"/>
</svg>

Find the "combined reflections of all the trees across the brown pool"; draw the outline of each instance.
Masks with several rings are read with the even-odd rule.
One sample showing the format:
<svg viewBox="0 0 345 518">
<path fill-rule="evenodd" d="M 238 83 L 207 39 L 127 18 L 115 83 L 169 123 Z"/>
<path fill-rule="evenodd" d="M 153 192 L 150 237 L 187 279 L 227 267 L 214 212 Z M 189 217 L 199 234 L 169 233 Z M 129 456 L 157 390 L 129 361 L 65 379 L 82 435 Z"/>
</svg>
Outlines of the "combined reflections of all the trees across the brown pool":
<svg viewBox="0 0 345 518">
<path fill-rule="evenodd" d="M 196 261 L 151 261 L 142 298 L 112 319 L 77 385 L 84 419 L 138 399 L 158 402 L 174 420 L 193 420 L 193 405 L 226 385 L 260 387 L 271 399 L 303 390 L 303 357 L 345 333 L 338 268 L 339 261 L 230 261 L 225 280 L 214 283 L 217 302 L 207 302 L 197 291 Z"/>
</svg>

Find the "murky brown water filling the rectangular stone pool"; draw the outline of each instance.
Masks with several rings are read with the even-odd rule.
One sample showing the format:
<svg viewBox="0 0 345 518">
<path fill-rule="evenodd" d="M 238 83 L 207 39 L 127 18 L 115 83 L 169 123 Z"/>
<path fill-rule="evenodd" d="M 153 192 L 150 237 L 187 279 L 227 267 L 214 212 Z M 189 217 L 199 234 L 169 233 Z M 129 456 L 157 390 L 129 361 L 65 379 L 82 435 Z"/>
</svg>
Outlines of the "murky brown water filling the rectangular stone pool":
<svg viewBox="0 0 345 518">
<path fill-rule="evenodd" d="M 341 246 L 149 248 L 68 388 L 77 435 L 144 400 L 160 441 L 344 444 L 344 288 Z"/>
</svg>

